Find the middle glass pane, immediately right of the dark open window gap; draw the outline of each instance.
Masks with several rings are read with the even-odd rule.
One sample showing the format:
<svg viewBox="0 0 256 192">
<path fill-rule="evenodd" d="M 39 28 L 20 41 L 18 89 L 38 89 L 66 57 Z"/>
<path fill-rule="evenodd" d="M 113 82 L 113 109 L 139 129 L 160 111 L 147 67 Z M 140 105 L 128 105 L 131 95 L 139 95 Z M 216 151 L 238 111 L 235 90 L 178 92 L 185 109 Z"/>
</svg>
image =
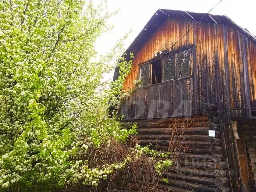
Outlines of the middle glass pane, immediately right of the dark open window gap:
<svg viewBox="0 0 256 192">
<path fill-rule="evenodd" d="M 163 81 L 175 78 L 175 58 L 174 56 L 163 59 Z"/>
</svg>

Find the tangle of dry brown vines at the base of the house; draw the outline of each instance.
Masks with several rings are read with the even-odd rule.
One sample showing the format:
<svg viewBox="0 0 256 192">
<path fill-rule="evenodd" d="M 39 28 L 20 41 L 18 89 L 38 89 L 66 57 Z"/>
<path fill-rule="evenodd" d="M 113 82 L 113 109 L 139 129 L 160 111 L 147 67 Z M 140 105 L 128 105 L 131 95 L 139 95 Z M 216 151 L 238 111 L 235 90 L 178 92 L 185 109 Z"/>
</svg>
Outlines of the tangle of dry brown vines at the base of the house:
<svg viewBox="0 0 256 192">
<path fill-rule="evenodd" d="M 111 140 L 110 144 L 102 144 L 100 148 L 89 148 L 85 153 L 80 151 L 79 159 L 88 161 L 89 168 L 122 162 L 127 154 L 131 154 L 132 161 L 123 170 L 116 170 L 108 176 L 107 180 L 101 180 L 98 187 L 84 186 L 82 181 L 76 186 L 68 186 L 67 191 L 112 191 L 112 189 L 125 189 L 128 191 L 158 191 L 158 183 L 163 177 L 155 170 L 156 160 L 147 155 L 136 158 L 132 148 L 138 144 L 137 136 L 130 137 L 125 143 Z M 160 190 L 159 190 L 160 191 Z"/>
</svg>

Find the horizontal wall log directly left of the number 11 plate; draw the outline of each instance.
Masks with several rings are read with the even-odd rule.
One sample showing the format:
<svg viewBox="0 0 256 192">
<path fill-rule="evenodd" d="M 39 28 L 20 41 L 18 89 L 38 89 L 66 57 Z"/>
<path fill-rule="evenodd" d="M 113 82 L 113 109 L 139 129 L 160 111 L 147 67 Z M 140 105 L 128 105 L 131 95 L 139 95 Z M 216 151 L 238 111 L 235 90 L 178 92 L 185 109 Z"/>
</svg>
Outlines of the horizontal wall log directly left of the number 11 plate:
<svg viewBox="0 0 256 192">
<path fill-rule="evenodd" d="M 159 134 L 159 135 L 171 135 L 173 131 L 178 135 L 192 135 L 192 134 L 208 134 L 208 127 L 188 127 L 188 128 L 139 128 L 137 132 L 139 134 Z M 175 133 L 174 132 L 174 133 Z"/>
</svg>

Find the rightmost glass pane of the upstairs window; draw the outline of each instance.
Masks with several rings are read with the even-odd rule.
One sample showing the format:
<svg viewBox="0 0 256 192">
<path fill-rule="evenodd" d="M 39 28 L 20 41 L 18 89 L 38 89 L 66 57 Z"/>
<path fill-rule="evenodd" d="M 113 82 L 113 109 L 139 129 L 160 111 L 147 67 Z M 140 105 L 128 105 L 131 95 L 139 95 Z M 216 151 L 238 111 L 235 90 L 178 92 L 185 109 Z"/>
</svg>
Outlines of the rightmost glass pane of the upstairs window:
<svg viewBox="0 0 256 192">
<path fill-rule="evenodd" d="M 177 53 L 177 79 L 191 75 L 191 49 Z"/>
</svg>

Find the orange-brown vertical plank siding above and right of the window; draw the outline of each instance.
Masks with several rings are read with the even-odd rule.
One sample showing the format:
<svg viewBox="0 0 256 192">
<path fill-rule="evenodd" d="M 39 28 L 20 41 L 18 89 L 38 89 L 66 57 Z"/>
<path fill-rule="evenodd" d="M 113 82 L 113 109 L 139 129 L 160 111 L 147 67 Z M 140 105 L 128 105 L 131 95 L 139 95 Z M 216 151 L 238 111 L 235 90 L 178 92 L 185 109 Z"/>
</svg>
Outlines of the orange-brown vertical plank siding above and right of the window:
<svg viewBox="0 0 256 192">
<path fill-rule="evenodd" d="M 123 90 L 133 88 L 140 63 L 154 59 L 154 53 L 172 47 L 194 23 L 193 20 L 180 18 L 167 19 L 134 56 L 133 68 L 126 78 Z M 232 116 L 245 116 L 244 113 L 248 113 L 250 109 L 256 109 L 255 43 L 233 26 L 201 22 L 170 51 L 192 44 L 195 44 L 192 96 L 194 100 L 201 102 L 194 106 L 195 111 L 202 112 L 203 103 L 217 104 L 218 108 L 229 110 Z M 172 92 L 176 95 L 168 97 L 175 101 L 177 98 L 173 97 L 180 96 L 178 92 Z"/>
</svg>

